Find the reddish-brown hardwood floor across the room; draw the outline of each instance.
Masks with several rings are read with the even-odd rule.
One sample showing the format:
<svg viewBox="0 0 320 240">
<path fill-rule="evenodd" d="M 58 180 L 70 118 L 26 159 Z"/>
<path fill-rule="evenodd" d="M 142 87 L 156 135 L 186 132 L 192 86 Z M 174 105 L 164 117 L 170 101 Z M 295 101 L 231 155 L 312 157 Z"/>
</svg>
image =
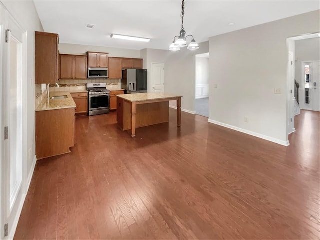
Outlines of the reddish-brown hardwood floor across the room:
<svg viewBox="0 0 320 240">
<path fill-rule="evenodd" d="M 176 112 L 170 122 L 76 120 L 70 154 L 39 160 L 15 239 L 318 239 L 320 113 L 284 147 Z"/>
</svg>

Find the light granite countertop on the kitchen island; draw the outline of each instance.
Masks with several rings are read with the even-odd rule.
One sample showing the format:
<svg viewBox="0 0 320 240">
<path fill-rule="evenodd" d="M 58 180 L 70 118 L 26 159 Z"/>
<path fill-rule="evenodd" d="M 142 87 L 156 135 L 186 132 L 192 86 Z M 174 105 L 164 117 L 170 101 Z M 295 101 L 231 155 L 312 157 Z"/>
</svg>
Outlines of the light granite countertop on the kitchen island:
<svg viewBox="0 0 320 240">
<path fill-rule="evenodd" d="M 168 99 L 172 97 L 182 97 L 181 95 L 175 95 L 175 94 L 163 93 L 163 92 L 123 94 L 123 95 L 116 95 L 116 96 L 131 102 Z"/>
</svg>

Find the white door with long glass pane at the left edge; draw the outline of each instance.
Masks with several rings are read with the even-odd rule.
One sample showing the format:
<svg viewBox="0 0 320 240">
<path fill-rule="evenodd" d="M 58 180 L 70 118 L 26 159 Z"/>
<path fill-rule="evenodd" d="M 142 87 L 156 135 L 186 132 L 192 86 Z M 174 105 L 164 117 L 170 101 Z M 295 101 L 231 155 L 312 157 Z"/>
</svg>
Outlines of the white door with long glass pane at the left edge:
<svg viewBox="0 0 320 240">
<path fill-rule="evenodd" d="M 11 238 L 21 210 L 21 201 L 23 202 L 21 85 L 22 47 L 25 45 L 22 44 L 23 31 L 2 7 L 1 24 L 1 35 L 4 36 L 1 37 L 3 50 L 1 128 L 4 132 L 2 130 L 1 132 L 4 136 L 5 129 L 8 129 L 7 139 L 1 135 L 1 222 L 8 224 L 8 237 Z"/>
</svg>

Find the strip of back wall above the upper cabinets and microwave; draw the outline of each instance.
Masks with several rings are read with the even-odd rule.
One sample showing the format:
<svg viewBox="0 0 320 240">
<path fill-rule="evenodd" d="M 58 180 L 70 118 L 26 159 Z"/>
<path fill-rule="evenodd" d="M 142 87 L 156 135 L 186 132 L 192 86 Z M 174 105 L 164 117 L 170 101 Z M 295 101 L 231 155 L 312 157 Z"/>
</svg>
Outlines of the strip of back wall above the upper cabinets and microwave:
<svg viewBox="0 0 320 240">
<path fill-rule="evenodd" d="M 58 32 L 53 32 L 58 33 Z M 122 48 L 89 46 L 69 43 L 59 43 L 60 54 L 86 55 L 87 51 L 108 52 L 113 57 L 132 57 L 140 58 L 140 50 L 130 50 Z"/>
</svg>

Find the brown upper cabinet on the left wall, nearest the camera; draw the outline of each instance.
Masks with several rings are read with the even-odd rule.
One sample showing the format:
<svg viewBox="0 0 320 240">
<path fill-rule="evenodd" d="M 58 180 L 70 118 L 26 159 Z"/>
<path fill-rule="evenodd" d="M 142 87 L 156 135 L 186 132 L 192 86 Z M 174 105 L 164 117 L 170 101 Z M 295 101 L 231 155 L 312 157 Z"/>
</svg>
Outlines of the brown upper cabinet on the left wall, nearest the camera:
<svg viewBox="0 0 320 240">
<path fill-rule="evenodd" d="M 59 35 L 35 32 L 35 83 L 54 84 L 59 78 Z"/>
</svg>

